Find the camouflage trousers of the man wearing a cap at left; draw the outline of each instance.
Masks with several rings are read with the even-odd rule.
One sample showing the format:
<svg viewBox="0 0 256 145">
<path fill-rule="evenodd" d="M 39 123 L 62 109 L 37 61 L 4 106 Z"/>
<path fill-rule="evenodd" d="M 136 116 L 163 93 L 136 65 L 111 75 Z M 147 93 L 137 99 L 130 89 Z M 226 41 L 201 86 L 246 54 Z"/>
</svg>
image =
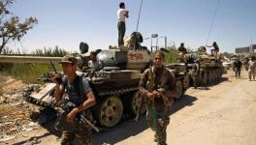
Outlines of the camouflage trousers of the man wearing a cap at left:
<svg viewBox="0 0 256 145">
<path fill-rule="evenodd" d="M 80 145 L 92 144 L 92 131 L 91 129 L 84 128 L 76 131 L 63 131 L 61 135 L 61 145 L 72 145 L 76 137 L 78 137 Z"/>
</svg>

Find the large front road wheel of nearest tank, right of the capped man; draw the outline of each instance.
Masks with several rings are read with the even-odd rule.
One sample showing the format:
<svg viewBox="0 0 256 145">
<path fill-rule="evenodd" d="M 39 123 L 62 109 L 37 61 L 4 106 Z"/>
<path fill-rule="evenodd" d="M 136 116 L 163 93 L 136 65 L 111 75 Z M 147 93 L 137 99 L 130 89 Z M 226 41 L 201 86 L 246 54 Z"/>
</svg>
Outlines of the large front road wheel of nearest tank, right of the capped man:
<svg viewBox="0 0 256 145">
<path fill-rule="evenodd" d="M 114 127 L 123 114 L 123 103 L 116 96 L 107 97 L 98 108 L 98 122 L 104 127 Z"/>
</svg>

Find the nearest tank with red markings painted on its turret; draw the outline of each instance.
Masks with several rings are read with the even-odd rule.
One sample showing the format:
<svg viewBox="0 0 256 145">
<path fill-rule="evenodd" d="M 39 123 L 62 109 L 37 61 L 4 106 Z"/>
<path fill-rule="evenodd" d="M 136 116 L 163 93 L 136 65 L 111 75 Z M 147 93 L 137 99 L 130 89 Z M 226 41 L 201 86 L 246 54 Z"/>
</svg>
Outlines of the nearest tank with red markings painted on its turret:
<svg viewBox="0 0 256 145">
<path fill-rule="evenodd" d="M 133 33 L 128 40 L 119 48 L 96 50 L 97 59 L 103 65 L 100 71 L 87 69 L 89 55 L 86 53 L 88 51 L 86 43 L 80 43 L 81 53 L 73 54 L 79 60 L 80 72 L 78 73 L 86 76 L 97 98 L 97 104 L 93 106 L 92 112 L 97 124 L 103 128 L 114 127 L 123 114 L 135 116 L 138 112 L 143 114 L 145 111 L 144 107 L 141 107 L 139 82 L 141 74 L 151 65 L 151 56 L 149 51 L 141 46 L 143 37 L 140 33 Z M 176 77 L 176 90 L 181 92 L 181 96 L 185 91 L 180 82 L 183 81 L 184 64 L 167 64 L 166 66 Z M 45 80 L 48 82 L 39 91 L 26 95 L 25 99 L 36 105 L 52 108 L 55 84 L 49 79 Z M 138 109 L 142 110 L 138 111 Z"/>
</svg>

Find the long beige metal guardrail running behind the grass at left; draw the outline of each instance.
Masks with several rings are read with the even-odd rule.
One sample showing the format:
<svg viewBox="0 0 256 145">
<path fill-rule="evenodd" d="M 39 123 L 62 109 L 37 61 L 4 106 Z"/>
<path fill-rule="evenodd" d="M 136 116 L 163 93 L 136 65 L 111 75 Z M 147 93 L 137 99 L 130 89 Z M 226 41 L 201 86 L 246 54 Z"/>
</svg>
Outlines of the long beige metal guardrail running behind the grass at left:
<svg viewBox="0 0 256 145">
<path fill-rule="evenodd" d="M 51 60 L 56 64 L 61 61 L 62 57 L 42 57 L 42 56 L 8 56 L 0 55 L 0 62 L 2 63 L 39 63 L 48 64 Z"/>
</svg>

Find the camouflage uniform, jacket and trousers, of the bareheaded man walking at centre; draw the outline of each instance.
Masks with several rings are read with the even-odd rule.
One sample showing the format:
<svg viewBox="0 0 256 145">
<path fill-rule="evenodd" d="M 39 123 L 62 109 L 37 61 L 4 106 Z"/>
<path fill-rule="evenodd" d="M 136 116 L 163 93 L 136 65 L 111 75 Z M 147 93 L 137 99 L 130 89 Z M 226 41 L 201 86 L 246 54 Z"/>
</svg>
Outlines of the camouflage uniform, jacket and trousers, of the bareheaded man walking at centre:
<svg viewBox="0 0 256 145">
<path fill-rule="evenodd" d="M 151 108 L 152 102 L 146 98 L 146 94 L 148 93 L 148 75 L 150 69 L 144 71 L 144 74 L 140 81 L 140 91 L 144 96 L 146 102 L 146 119 L 147 124 L 149 127 L 155 131 L 155 141 L 159 145 L 166 144 L 166 129 L 170 123 L 170 112 L 171 106 L 174 102 L 174 90 L 175 90 L 175 78 L 172 74 L 166 70 L 165 68 L 162 69 L 155 69 L 152 67 L 152 72 L 155 77 L 154 79 L 154 90 L 157 90 L 160 94 L 159 98 L 154 99 L 154 107 L 156 109 L 156 116 L 155 116 L 155 127 L 152 127 L 151 124 Z"/>
</svg>

